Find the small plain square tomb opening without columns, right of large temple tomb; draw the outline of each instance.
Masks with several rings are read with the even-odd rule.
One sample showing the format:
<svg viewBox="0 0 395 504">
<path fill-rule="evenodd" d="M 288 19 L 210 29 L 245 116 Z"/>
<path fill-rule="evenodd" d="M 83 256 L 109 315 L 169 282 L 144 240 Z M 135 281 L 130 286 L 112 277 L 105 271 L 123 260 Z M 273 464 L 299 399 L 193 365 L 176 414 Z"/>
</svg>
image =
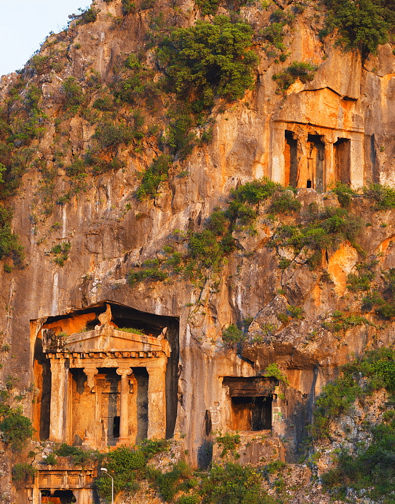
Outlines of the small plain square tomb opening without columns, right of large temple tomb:
<svg viewBox="0 0 395 504">
<path fill-rule="evenodd" d="M 275 380 L 262 377 L 224 377 L 222 386 L 229 389 L 231 430 L 271 430 L 276 385 Z"/>
</svg>

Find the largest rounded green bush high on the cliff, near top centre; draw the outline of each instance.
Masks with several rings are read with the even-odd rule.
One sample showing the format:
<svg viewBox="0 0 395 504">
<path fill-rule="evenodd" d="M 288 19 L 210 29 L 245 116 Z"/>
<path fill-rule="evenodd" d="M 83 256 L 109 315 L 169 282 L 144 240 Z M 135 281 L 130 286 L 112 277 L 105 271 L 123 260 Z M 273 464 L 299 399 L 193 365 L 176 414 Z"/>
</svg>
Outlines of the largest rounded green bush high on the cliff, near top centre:
<svg viewBox="0 0 395 504">
<path fill-rule="evenodd" d="M 253 85 L 258 56 L 251 49 L 253 30 L 216 16 L 212 23 L 197 21 L 177 28 L 157 52 L 175 91 L 210 106 L 215 94 L 234 100 Z"/>
</svg>

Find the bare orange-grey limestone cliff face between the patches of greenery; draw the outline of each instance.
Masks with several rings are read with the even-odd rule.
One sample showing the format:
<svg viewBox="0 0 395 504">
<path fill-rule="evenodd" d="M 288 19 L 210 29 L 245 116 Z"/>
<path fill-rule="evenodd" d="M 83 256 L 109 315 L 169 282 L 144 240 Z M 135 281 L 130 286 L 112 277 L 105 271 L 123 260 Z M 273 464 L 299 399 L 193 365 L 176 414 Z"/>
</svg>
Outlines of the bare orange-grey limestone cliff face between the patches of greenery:
<svg viewBox="0 0 395 504">
<path fill-rule="evenodd" d="M 354 186 L 368 181 L 395 184 L 392 48 L 389 44 L 381 46 L 377 56 L 362 62 L 356 52 L 343 52 L 334 46 L 333 38 L 320 40 L 322 12 L 308 7 L 285 29 L 284 42 L 290 53 L 286 62 L 268 55 L 264 50 L 266 42 L 257 35 L 254 50 L 260 62 L 254 88 L 231 104 L 216 102 L 211 114 L 212 141 L 194 147 L 186 159 L 176 160 L 168 181 L 159 186 L 153 200 L 140 202 L 134 194 L 138 173 L 161 153 L 157 137 L 150 136 L 147 130 L 157 117 L 165 115 L 166 103 L 159 111 L 146 112 L 146 135 L 140 149 L 119 148 L 123 167 L 89 174 L 83 191 L 56 204 L 71 183 L 64 167 L 87 152 L 96 129 L 96 124 L 81 111 L 75 115 L 64 113 L 62 86 L 66 79 L 74 77 L 83 93 L 90 93 L 92 105 L 102 91 L 92 91 L 90 76 L 103 86 L 110 85 L 119 60 L 138 50 L 144 51 L 144 64 L 158 79 L 163 69 L 146 45 L 152 18 L 162 11 L 168 22 L 176 20 L 174 23 L 182 26 L 191 26 L 201 18 L 192 2 L 177 8 L 157 3 L 152 9 L 137 9 L 123 17 L 119 0 L 98 0 L 96 8 L 96 21 L 71 24 L 66 32 L 48 38 L 39 53 L 44 57 L 40 71 L 37 66 L 34 70 L 32 64 L 22 71 L 19 94 L 23 97 L 29 85 L 37 86 L 42 93 L 39 103 L 45 118 L 41 137 L 31 142 L 33 159 L 18 193 L 7 202 L 14 208 L 13 229 L 25 247 L 26 266 L 11 273 L 0 271 L 2 344 L 11 347 L 2 356 L 2 375 L 19 377 L 17 388 L 24 395 L 21 404 L 25 414 L 31 416 L 33 392 L 29 387 L 35 382 L 37 334 L 31 331 L 30 321 L 45 322 L 48 317 L 104 300 L 159 316 L 177 317 L 179 361 L 173 379 L 178 401 L 173 413 L 175 431 L 186 434 L 184 447 L 190 462 L 201 466 L 209 462 L 206 448 L 212 438 L 206 428 L 208 416 L 212 430 L 231 430 L 223 377 L 259 376 L 273 362 L 290 381 L 285 399 L 277 400 L 273 431 L 276 436 L 289 439 L 287 457 L 292 460 L 304 426 L 311 419 L 314 396 L 336 376 L 347 354 L 394 342 L 393 324 L 378 323 L 374 310 L 365 314 L 370 325 L 347 328 L 340 337 L 322 325 L 323 321 L 331 321 L 334 310 L 360 311 L 360 299 L 347 290 L 347 275 L 355 272 L 361 261 L 356 247 L 344 242 L 337 250 L 324 251 L 322 266 L 311 270 L 302 255 L 289 256 L 289 250 L 281 246 L 266 246 L 278 221 L 268 220 L 267 208 L 262 206 L 257 234 L 251 237 L 248 233 L 235 233 L 238 248 L 220 274 L 209 275 L 204 285 L 196 286 L 173 275 L 164 282 L 145 280 L 130 286 L 127 274 L 136 264 L 155 258 L 164 246 L 177 241 L 177 229 L 201 230 L 213 209 L 223 207 L 230 189 L 238 184 L 262 176 L 290 182 L 286 174 L 285 130 L 293 140 L 304 139 L 295 155 L 300 166 L 306 160 L 306 170 L 306 142 L 313 137 L 323 139 L 327 163 L 324 185 L 343 176 L 337 175 L 336 154 L 331 150 L 339 138 L 351 142 L 350 168 L 344 176 Z M 258 34 L 269 23 L 275 8 L 242 7 L 241 16 Z M 291 10 L 292 4 L 282 2 L 281 8 Z M 227 13 L 222 7 L 219 11 Z M 118 18 L 121 22 L 116 23 Z M 48 61 L 56 58 L 60 67 L 53 66 L 51 70 Z M 278 93 L 272 77 L 294 60 L 317 65 L 314 79 L 305 84 L 296 80 L 286 92 Z M 0 99 L 4 104 L 18 79 L 14 74 L 2 78 Z M 127 107 L 119 113 L 127 114 Z M 56 158 L 60 148 L 61 164 Z M 48 182 L 43 167 L 55 172 L 49 196 L 44 191 Z M 187 175 L 179 177 L 180 172 Z M 307 173 L 306 180 L 308 176 Z M 336 195 L 319 194 L 314 188 L 307 188 L 308 183 L 300 177 L 295 198 L 302 211 L 314 202 L 340 207 Z M 380 269 L 395 266 L 393 211 L 373 212 L 371 203 L 362 198 L 353 200 L 351 211 L 371 223 L 358 239 L 366 257 L 378 258 L 375 271 L 379 278 Z M 68 259 L 60 266 L 54 263 L 50 250 L 64 242 L 70 243 L 71 248 Z M 278 267 L 281 258 L 292 261 L 283 270 Z M 277 314 L 286 312 L 288 304 L 301 307 L 303 318 L 288 317 L 281 322 Z M 223 345 L 221 334 L 229 324 L 241 325 L 247 317 L 254 320 L 248 332 L 249 343 L 240 354 Z M 6 467 L 5 457 L 3 464 L 0 481 L 6 487 L 10 467 Z"/>
</svg>

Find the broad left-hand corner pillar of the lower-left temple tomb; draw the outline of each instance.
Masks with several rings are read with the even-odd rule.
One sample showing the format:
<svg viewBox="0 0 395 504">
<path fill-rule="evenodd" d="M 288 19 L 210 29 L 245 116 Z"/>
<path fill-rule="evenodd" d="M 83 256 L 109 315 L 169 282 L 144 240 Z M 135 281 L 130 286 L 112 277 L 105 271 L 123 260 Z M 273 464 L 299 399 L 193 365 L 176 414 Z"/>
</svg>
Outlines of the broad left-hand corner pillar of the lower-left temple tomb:
<svg viewBox="0 0 395 504">
<path fill-rule="evenodd" d="M 49 440 L 67 443 L 68 360 L 51 358 Z"/>
</svg>

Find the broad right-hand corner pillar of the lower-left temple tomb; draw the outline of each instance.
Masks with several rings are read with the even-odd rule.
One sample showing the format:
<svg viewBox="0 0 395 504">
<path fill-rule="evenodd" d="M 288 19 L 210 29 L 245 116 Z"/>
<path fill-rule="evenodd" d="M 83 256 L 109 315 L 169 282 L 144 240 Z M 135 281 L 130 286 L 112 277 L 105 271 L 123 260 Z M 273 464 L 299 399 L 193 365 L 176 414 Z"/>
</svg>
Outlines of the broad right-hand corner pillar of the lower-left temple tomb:
<svg viewBox="0 0 395 504">
<path fill-rule="evenodd" d="M 148 439 L 166 437 L 166 364 L 167 359 L 161 358 L 147 365 Z"/>
</svg>

